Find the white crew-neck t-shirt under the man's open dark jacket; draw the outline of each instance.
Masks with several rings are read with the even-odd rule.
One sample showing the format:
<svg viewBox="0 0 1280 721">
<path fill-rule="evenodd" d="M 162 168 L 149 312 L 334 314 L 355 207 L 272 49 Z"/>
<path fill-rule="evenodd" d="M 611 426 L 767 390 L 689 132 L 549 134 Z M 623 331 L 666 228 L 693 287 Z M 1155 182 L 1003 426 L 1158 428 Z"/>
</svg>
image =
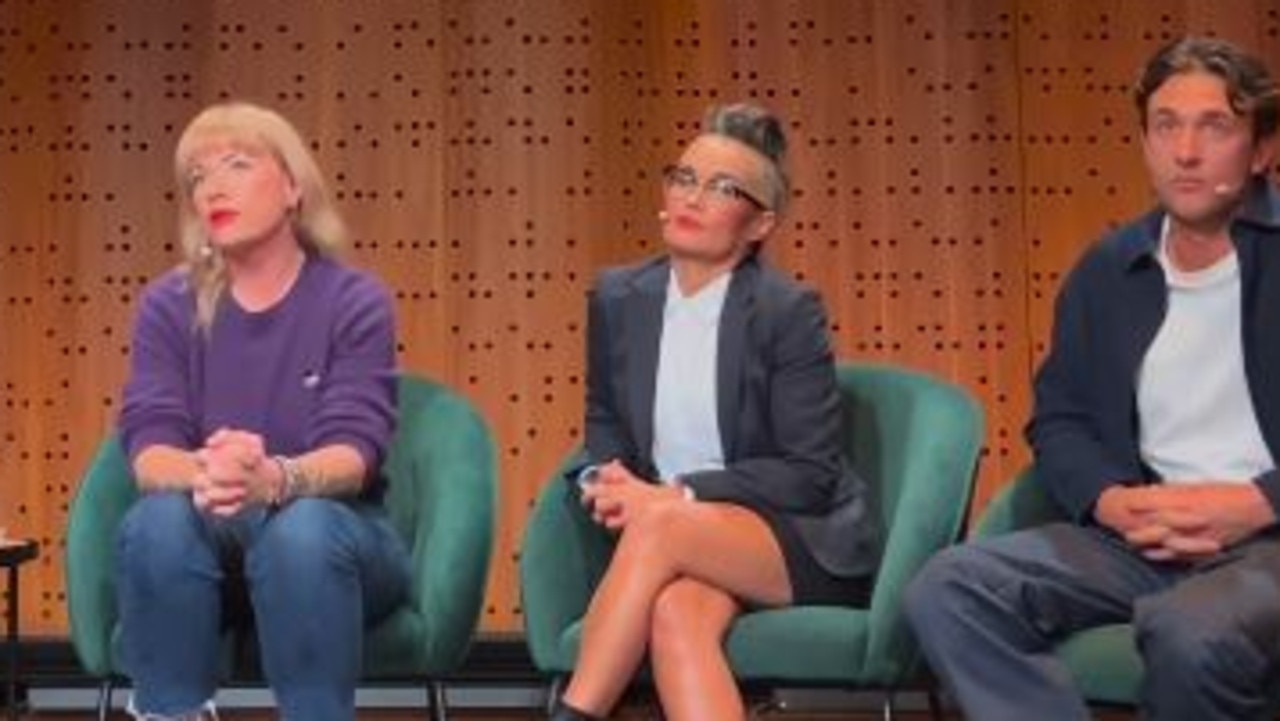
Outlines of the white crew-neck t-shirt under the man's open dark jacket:
<svg viewBox="0 0 1280 721">
<path fill-rule="evenodd" d="M 1169 310 L 1138 370 L 1142 460 L 1166 483 L 1248 482 L 1275 467 L 1244 377 L 1240 264 L 1179 270 L 1169 222 L 1157 259 Z"/>
</svg>

